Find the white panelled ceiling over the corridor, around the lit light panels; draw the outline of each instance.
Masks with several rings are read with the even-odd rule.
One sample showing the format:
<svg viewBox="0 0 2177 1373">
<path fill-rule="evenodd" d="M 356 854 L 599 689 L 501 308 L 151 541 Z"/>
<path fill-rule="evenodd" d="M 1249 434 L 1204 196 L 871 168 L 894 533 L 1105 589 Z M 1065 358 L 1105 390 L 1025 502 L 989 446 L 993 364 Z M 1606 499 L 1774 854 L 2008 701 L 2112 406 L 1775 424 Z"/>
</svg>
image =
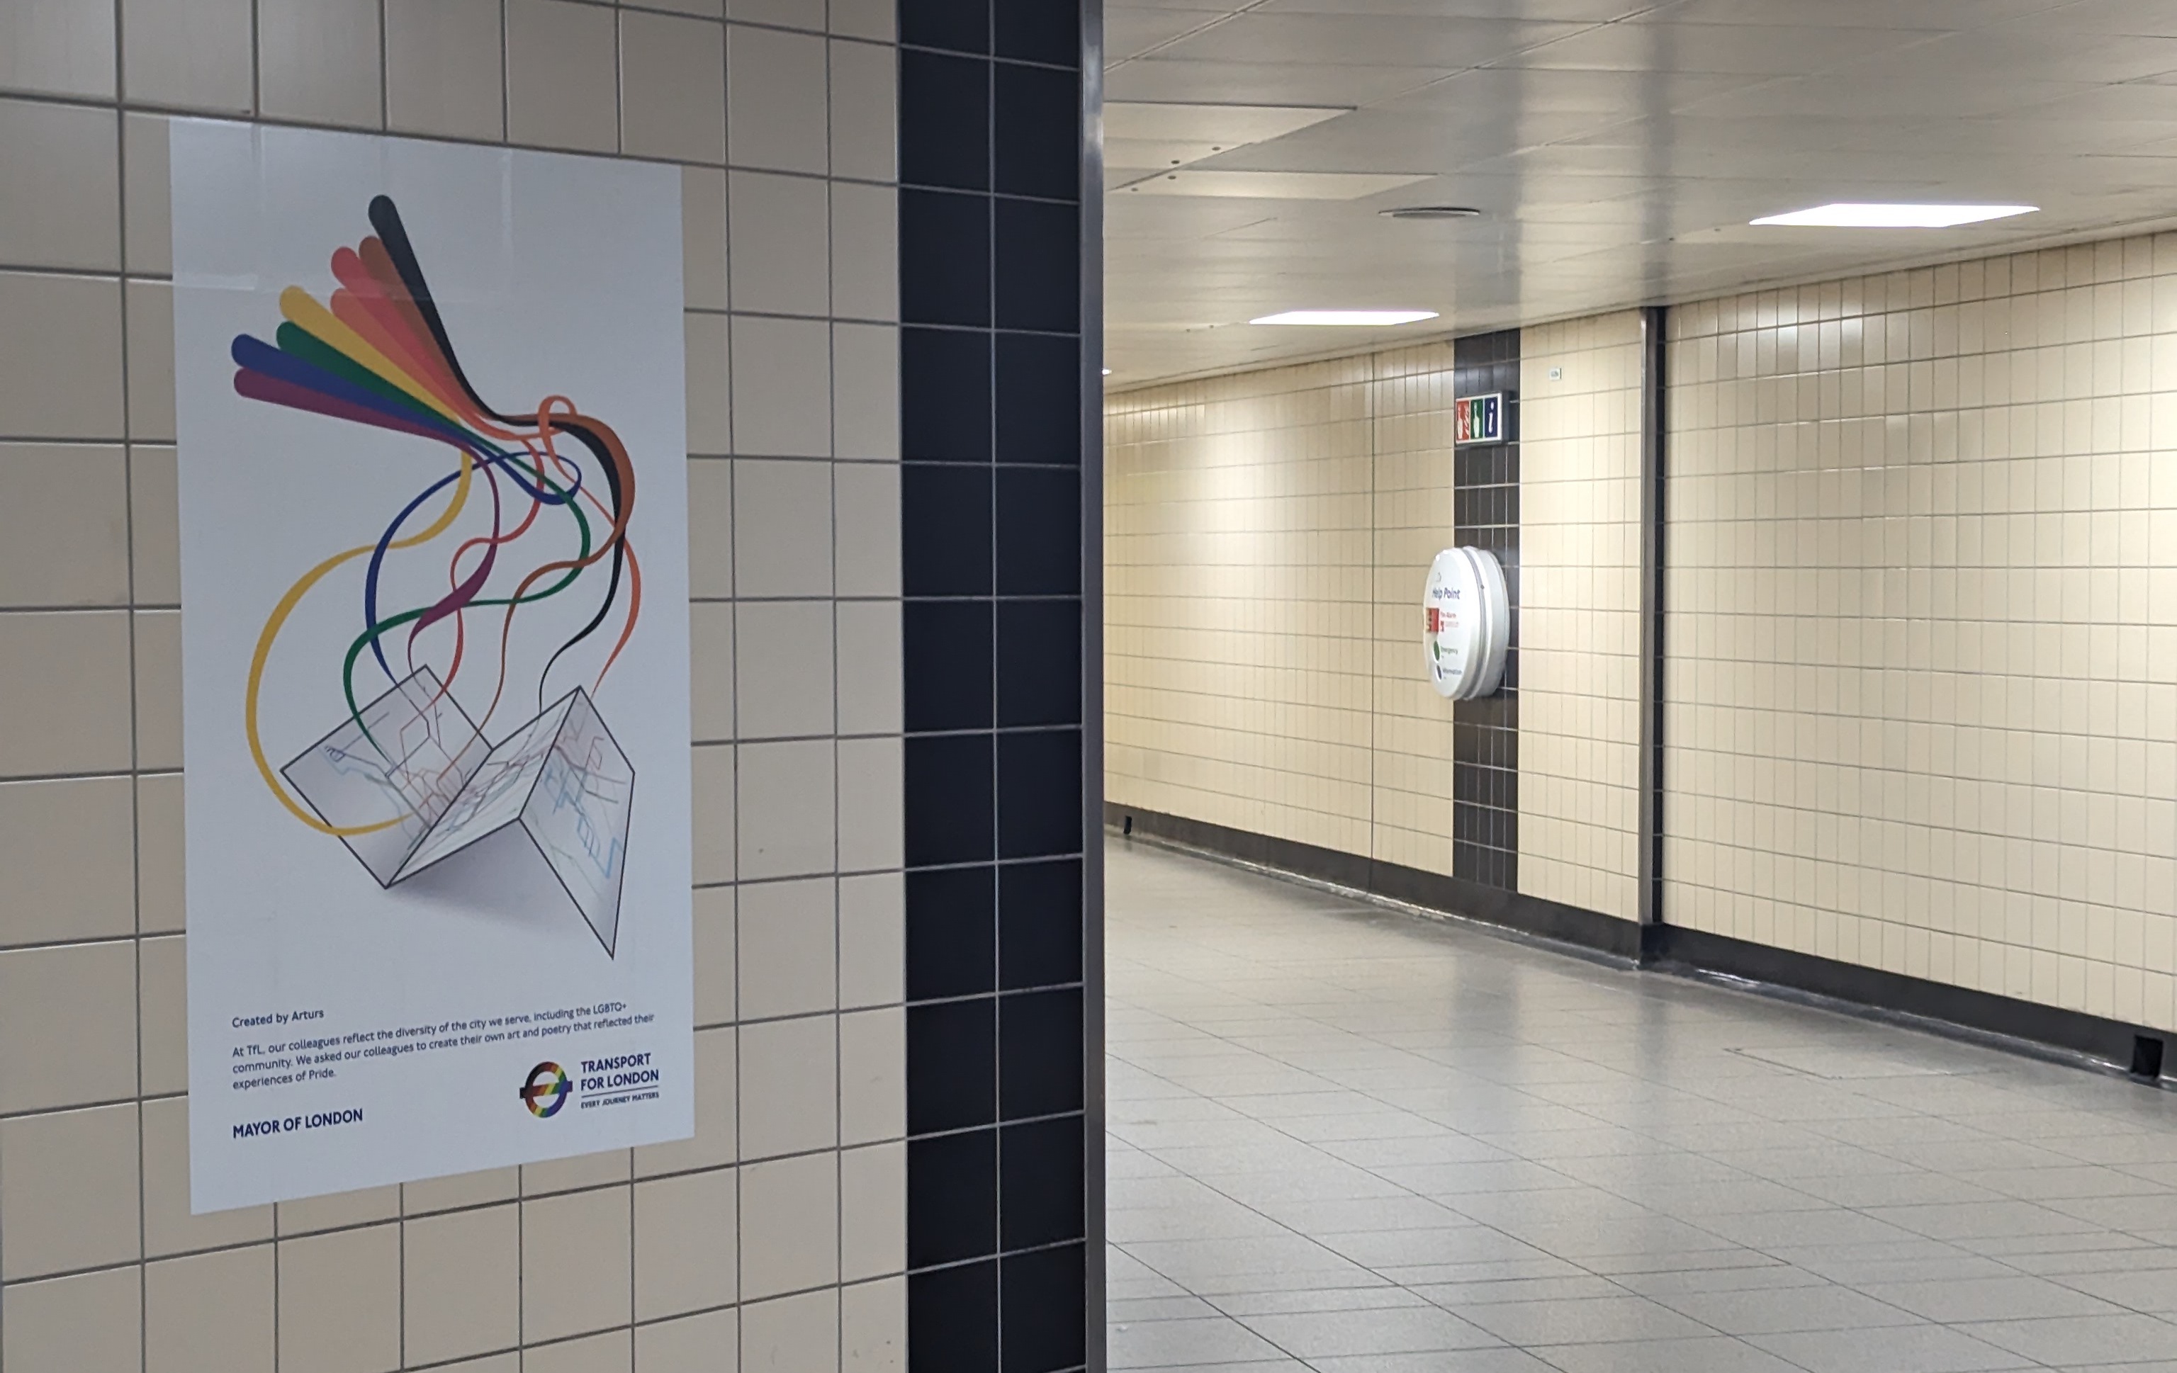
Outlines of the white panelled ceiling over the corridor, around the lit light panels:
<svg viewBox="0 0 2177 1373">
<path fill-rule="evenodd" d="M 1112 107 L 1110 181 L 1141 185 L 1106 198 L 1115 385 L 2177 224 L 2177 0 L 1110 15 L 1106 91 L 1134 102 Z M 1243 128 L 1243 107 L 1319 109 Z M 2042 209 L 1946 231 L 1746 224 L 1829 200 Z M 1483 213 L 1380 213 L 1422 202 Z M 1341 307 L 1443 318 L 1245 324 Z"/>
</svg>

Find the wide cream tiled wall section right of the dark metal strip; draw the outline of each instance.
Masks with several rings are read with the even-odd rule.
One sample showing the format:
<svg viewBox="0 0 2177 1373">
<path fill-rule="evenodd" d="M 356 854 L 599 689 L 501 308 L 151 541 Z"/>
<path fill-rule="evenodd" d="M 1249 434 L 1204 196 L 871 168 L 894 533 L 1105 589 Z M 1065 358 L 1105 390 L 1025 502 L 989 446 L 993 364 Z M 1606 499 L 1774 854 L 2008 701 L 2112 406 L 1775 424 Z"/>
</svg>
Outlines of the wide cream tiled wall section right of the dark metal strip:
<svg viewBox="0 0 2177 1373">
<path fill-rule="evenodd" d="M 1670 320 L 1665 918 L 2177 1027 L 2177 239 Z"/>
</svg>

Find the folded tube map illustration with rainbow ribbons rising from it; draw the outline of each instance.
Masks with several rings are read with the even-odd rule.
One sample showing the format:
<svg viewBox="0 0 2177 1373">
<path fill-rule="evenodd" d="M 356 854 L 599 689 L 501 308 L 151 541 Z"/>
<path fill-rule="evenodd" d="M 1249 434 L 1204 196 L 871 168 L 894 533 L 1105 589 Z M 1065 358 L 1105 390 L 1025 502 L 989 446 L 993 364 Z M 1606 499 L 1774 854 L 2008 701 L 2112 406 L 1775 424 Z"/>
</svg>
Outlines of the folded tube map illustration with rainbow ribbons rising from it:
<svg viewBox="0 0 2177 1373">
<path fill-rule="evenodd" d="M 388 196 L 372 198 L 370 224 L 377 233 L 333 252 L 342 285 L 329 302 L 287 287 L 272 344 L 246 333 L 233 339 L 235 392 L 446 444 L 457 466 L 396 498 L 374 542 L 327 557 L 281 596 L 248 672 L 250 755 L 281 805 L 346 844 L 381 888 L 451 862 L 542 862 L 610 957 L 618 947 L 636 775 L 594 692 L 642 611 L 642 564 L 627 533 L 634 463 L 618 435 L 566 396 L 546 396 L 531 413 L 485 407 L 455 359 Z M 472 511 L 483 505 L 479 496 L 490 503 L 488 533 Z M 457 533 L 464 511 L 466 535 Z M 527 561 L 525 544 L 555 548 L 557 557 Z M 390 564 L 431 546 L 451 546 L 451 555 L 440 553 L 446 590 L 425 605 L 385 603 Z M 309 592 L 359 561 L 359 622 L 337 672 L 346 716 L 274 770 L 259 727 L 268 661 Z M 536 672 L 536 714 L 492 740 L 485 727 L 507 696 L 516 614 L 553 598 L 577 603 L 577 614 L 590 603 L 594 609 Z M 455 685 L 462 668 L 483 657 L 470 651 L 468 618 L 485 614 L 496 620 L 496 675 L 475 718 Z M 562 657 L 612 620 L 618 638 L 590 685 L 573 685 L 546 705 L 546 679 Z M 438 633 L 425 642 L 433 627 Z M 479 638 L 490 653 L 492 635 Z M 433 653 L 444 668 L 433 666 Z M 372 668 L 390 685 L 364 698 L 357 677 Z M 529 842 L 481 844 L 509 827 Z"/>
</svg>

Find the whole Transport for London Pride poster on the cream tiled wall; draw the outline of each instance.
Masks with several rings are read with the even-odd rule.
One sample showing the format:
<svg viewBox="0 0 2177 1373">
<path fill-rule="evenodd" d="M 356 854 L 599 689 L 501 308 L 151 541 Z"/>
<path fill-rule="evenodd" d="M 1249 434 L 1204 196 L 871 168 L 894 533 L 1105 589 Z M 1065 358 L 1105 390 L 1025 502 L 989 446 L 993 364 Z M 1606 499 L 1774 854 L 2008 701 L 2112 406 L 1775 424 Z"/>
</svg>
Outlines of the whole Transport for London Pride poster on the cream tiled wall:
<svg viewBox="0 0 2177 1373">
<path fill-rule="evenodd" d="M 194 1210 L 690 1136 L 679 172 L 172 196 Z"/>
</svg>

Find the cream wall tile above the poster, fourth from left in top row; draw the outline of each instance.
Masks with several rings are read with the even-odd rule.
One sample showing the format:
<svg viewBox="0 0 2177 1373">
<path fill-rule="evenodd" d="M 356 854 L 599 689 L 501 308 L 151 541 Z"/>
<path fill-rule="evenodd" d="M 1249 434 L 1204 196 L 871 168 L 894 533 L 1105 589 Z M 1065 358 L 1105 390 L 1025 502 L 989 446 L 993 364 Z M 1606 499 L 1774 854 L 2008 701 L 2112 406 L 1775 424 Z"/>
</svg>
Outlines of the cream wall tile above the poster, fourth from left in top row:
<svg viewBox="0 0 2177 1373">
<path fill-rule="evenodd" d="M 385 126 L 496 144 L 505 124 L 499 0 L 385 0 Z"/>
</svg>

